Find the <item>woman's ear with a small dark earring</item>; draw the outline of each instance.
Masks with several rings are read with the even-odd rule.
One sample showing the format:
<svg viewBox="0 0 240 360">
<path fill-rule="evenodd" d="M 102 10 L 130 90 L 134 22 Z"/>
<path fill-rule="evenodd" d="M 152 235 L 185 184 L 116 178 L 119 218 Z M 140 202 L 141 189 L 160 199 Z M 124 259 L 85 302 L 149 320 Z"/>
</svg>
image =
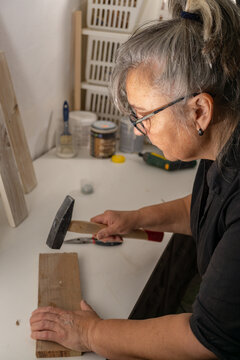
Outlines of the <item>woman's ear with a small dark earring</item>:
<svg viewBox="0 0 240 360">
<path fill-rule="evenodd" d="M 208 93 L 201 93 L 190 99 L 189 103 L 193 114 L 196 130 L 207 130 L 213 116 L 213 98 Z"/>
</svg>

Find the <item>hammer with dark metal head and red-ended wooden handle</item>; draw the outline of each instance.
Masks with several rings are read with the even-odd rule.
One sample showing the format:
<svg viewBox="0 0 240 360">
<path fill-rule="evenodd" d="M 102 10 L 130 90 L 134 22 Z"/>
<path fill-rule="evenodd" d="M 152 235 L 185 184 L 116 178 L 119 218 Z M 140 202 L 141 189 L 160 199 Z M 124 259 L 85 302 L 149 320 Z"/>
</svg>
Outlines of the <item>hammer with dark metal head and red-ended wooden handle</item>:
<svg viewBox="0 0 240 360">
<path fill-rule="evenodd" d="M 53 224 L 46 242 L 51 249 L 61 248 L 67 231 L 77 232 L 81 234 L 95 234 L 99 230 L 106 227 L 106 225 L 92 223 L 88 221 L 72 221 L 71 219 L 74 201 L 75 200 L 70 195 L 67 195 L 62 205 L 60 206 L 55 216 L 55 219 L 53 220 Z M 125 234 L 124 236 L 133 239 L 143 239 L 160 242 L 162 241 L 163 233 L 158 231 L 138 229 L 133 230 L 130 233 Z"/>
</svg>

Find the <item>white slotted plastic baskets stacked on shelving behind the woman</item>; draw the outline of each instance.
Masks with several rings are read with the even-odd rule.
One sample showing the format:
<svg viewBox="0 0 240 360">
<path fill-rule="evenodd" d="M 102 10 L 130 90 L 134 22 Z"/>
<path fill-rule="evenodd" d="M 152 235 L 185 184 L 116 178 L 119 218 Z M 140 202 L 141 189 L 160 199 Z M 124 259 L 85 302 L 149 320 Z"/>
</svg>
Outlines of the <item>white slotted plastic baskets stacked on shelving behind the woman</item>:
<svg viewBox="0 0 240 360">
<path fill-rule="evenodd" d="M 118 123 L 120 112 L 113 105 L 108 85 L 119 46 L 128 40 L 144 0 L 90 0 L 87 10 L 85 110 L 95 112 L 99 120 Z M 166 0 L 161 0 L 159 18 L 167 17 Z"/>
</svg>

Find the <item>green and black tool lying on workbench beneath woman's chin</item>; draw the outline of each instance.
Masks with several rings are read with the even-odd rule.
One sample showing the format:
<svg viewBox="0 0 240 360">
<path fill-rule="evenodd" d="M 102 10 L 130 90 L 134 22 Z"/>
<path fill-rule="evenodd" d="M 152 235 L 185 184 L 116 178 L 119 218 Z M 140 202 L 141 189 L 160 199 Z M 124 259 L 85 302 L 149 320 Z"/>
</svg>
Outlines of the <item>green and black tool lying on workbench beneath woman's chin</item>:
<svg viewBox="0 0 240 360">
<path fill-rule="evenodd" d="M 148 165 L 156 166 L 167 171 L 189 169 L 189 168 L 193 168 L 197 164 L 196 160 L 170 161 L 166 159 L 163 155 L 156 154 L 154 152 L 145 152 L 145 153 L 140 152 L 138 153 L 138 155 L 141 156 Z"/>
</svg>

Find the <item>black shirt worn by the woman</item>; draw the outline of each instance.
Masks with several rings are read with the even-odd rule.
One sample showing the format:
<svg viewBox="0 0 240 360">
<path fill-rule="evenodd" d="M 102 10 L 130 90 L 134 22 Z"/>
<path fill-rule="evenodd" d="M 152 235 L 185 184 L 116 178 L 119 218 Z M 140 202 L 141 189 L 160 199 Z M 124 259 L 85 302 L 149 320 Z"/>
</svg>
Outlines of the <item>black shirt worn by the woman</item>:
<svg viewBox="0 0 240 360">
<path fill-rule="evenodd" d="M 239 127 L 238 127 L 239 128 Z M 219 359 L 240 359 L 240 145 L 231 137 L 221 167 L 201 160 L 191 204 L 191 229 L 202 277 L 190 326 Z"/>
</svg>

